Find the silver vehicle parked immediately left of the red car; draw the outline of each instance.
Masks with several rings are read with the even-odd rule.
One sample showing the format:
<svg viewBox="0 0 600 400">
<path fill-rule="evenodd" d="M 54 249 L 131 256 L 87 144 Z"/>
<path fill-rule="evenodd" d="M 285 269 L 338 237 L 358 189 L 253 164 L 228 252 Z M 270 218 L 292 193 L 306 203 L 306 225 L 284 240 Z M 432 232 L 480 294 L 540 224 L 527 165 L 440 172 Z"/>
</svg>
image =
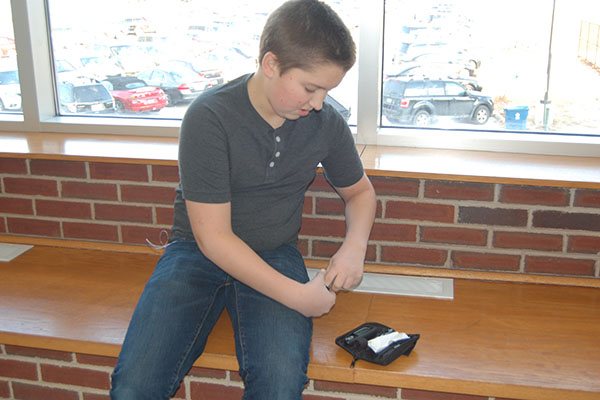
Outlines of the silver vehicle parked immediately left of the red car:
<svg viewBox="0 0 600 400">
<path fill-rule="evenodd" d="M 115 111 L 115 102 L 108 89 L 91 79 L 58 83 L 58 99 L 62 113 L 100 114 Z"/>
</svg>

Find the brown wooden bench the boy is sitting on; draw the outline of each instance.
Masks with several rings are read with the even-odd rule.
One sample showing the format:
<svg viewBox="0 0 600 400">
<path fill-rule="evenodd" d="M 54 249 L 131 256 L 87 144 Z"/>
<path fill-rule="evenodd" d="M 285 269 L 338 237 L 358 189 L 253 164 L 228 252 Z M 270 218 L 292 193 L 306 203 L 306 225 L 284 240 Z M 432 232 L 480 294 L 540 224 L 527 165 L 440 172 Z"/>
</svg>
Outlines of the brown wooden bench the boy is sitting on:
<svg viewBox="0 0 600 400">
<path fill-rule="evenodd" d="M 116 357 L 157 257 L 37 245 L 0 263 L 0 344 Z M 366 321 L 421 339 L 386 367 L 359 361 L 350 368 L 334 338 Z M 196 366 L 237 370 L 226 315 Z M 453 300 L 340 293 L 333 311 L 315 320 L 309 377 L 495 398 L 599 399 L 600 291 L 455 279 Z"/>
</svg>

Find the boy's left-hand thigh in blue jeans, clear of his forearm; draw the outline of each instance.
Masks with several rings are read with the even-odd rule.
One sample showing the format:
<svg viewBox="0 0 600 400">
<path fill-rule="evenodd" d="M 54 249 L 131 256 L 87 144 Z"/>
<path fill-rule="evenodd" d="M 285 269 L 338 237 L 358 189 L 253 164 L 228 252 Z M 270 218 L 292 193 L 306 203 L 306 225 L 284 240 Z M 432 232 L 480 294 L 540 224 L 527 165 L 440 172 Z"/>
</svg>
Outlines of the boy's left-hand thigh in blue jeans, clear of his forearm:
<svg viewBox="0 0 600 400">
<path fill-rule="evenodd" d="M 229 284 L 195 243 L 170 245 L 135 308 L 113 383 L 172 394 L 204 350 Z"/>
</svg>

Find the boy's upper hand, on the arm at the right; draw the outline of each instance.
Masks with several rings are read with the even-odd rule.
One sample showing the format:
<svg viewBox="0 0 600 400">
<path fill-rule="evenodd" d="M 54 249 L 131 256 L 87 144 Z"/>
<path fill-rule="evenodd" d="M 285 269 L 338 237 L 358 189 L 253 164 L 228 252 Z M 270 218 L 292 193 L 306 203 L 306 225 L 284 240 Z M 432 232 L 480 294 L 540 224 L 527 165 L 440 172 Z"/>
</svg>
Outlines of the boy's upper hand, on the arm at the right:
<svg viewBox="0 0 600 400">
<path fill-rule="evenodd" d="M 344 243 L 329 260 L 325 284 L 334 292 L 354 289 L 362 280 L 363 269 L 364 251 Z"/>
</svg>

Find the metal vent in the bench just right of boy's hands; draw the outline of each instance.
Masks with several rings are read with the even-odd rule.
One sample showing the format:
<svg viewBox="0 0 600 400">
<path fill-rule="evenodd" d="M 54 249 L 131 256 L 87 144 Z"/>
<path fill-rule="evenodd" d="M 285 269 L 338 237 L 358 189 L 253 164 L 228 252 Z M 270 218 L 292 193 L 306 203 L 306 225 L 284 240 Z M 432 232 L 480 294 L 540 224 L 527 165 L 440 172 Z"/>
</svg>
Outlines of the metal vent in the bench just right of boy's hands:
<svg viewBox="0 0 600 400">
<path fill-rule="evenodd" d="M 308 268 L 308 276 L 312 279 L 318 271 L 316 268 Z M 454 280 L 365 272 L 354 291 L 452 300 Z"/>
</svg>

